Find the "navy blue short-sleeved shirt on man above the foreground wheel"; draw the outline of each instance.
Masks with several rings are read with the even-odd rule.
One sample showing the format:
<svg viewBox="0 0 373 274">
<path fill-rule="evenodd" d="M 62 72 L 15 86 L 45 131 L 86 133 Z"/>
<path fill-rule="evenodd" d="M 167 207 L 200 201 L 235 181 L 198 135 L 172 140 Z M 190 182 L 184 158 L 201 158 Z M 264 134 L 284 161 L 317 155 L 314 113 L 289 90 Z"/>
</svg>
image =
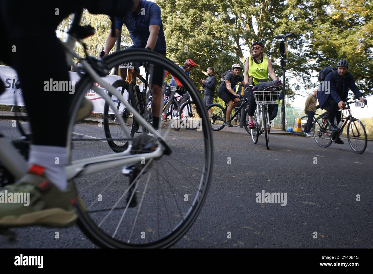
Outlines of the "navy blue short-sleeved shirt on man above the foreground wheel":
<svg viewBox="0 0 373 274">
<path fill-rule="evenodd" d="M 159 26 L 158 40 L 153 50 L 166 50 L 166 39 L 164 39 L 163 24 L 161 19 L 160 7 L 151 1 L 141 1 L 140 10 L 137 15 L 129 13 L 124 17 L 115 17 L 114 28 L 122 29 L 123 23 L 129 31 L 132 42 L 135 47 L 145 48 L 150 32 L 149 26 Z"/>
</svg>

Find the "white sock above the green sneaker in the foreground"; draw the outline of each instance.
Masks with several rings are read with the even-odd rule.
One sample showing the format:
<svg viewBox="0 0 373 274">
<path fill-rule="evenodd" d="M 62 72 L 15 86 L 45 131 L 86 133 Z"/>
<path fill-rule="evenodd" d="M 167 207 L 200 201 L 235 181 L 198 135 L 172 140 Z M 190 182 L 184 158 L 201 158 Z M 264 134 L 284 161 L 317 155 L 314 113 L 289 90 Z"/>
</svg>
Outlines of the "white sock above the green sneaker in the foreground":
<svg viewBox="0 0 373 274">
<path fill-rule="evenodd" d="M 68 164 L 68 153 L 65 147 L 31 145 L 29 164 L 45 167 L 44 174 L 60 190 L 68 186 L 65 167 Z"/>
</svg>

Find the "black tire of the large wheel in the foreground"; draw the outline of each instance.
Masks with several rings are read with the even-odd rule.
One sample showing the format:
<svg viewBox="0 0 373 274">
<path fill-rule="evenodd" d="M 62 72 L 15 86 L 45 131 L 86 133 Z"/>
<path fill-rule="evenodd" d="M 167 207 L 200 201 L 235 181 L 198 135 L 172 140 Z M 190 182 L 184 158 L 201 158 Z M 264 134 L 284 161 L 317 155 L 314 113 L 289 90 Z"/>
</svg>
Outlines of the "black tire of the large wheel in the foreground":
<svg viewBox="0 0 373 274">
<path fill-rule="evenodd" d="M 118 240 L 115 237 L 112 237 L 110 234 L 107 234 L 101 227 L 99 227 L 93 218 L 90 215 L 88 210 L 85 210 L 84 202 L 81 199 L 81 196 L 78 196 L 78 203 L 77 203 L 77 211 L 79 215 L 79 222 L 78 225 L 82 229 L 82 231 L 89 237 L 94 243 L 98 246 L 105 247 L 105 248 L 166 248 L 173 245 L 176 241 L 178 241 L 192 226 L 192 224 L 197 219 L 199 212 L 206 200 L 207 192 L 209 189 L 211 177 L 212 177 L 212 167 L 213 167 L 213 140 L 212 140 L 212 132 L 211 127 L 209 126 L 207 113 L 205 112 L 206 108 L 200 98 L 198 91 L 195 89 L 194 85 L 190 81 L 190 79 L 186 78 L 184 73 L 181 73 L 178 66 L 170 62 L 165 58 L 160 58 L 156 53 L 151 51 L 144 51 L 144 50 L 126 50 L 126 51 L 118 51 L 110 56 L 104 57 L 103 62 L 104 64 L 111 68 L 121 63 L 130 62 L 131 60 L 137 60 L 139 62 L 150 62 L 156 64 L 158 66 L 163 66 L 167 68 L 167 70 L 175 75 L 179 81 L 181 81 L 184 86 L 186 86 L 191 94 L 192 98 L 194 99 L 194 103 L 197 106 L 197 110 L 199 111 L 200 115 L 202 116 L 201 122 L 202 125 L 202 133 L 203 136 L 200 138 L 200 142 L 204 145 L 204 154 L 202 158 L 202 169 L 201 169 L 201 177 L 197 178 L 195 181 L 198 183 L 197 192 L 195 198 L 192 199 L 191 207 L 189 210 L 186 210 L 185 216 L 181 218 L 181 221 L 175 224 L 169 233 L 162 235 L 162 238 L 158 240 L 154 240 L 152 242 L 146 243 L 129 243 L 126 241 Z M 81 98 L 84 96 L 85 91 L 93 86 L 93 80 L 90 75 L 85 75 L 81 78 L 81 80 L 76 85 L 76 92 L 77 92 L 77 99 L 75 104 L 72 106 L 72 115 L 70 117 L 75 117 L 76 112 L 78 110 L 78 104 L 81 101 Z M 73 132 L 73 119 L 70 120 L 69 124 L 69 135 L 68 135 L 68 148 L 70 148 L 70 141 L 71 141 L 71 133 Z M 196 140 L 193 140 L 195 143 Z M 69 150 L 70 151 L 70 150 Z M 71 158 L 71 157 L 70 157 Z M 162 158 L 165 160 L 165 158 Z M 159 162 L 158 162 L 159 163 Z M 168 170 L 167 170 L 168 171 Z M 166 172 L 166 170 L 165 170 Z M 162 175 L 166 175 L 166 173 Z M 173 173 L 169 172 L 169 176 L 172 176 Z M 79 178 L 74 179 L 74 185 L 78 193 L 85 194 L 85 192 L 79 192 L 81 183 L 79 182 L 79 186 L 76 184 L 76 180 Z M 164 177 L 163 177 L 164 178 Z M 189 178 L 190 179 L 190 178 Z M 180 182 L 178 182 L 179 184 Z M 91 188 L 90 188 L 91 189 Z M 110 201 L 110 199 L 109 199 Z M 166 205 L 166 204 L 165 204 Z M 93 213 L 94 214 L 94 213 Z M 172 217 L 172 216 L 171 216 Z M 126 223 L 127 224 L 127 223 Z M 108 223 L 108 225 L 110 225 Z M 161 223 L 163 225 L 163 223 Z M 148 235 L 152 235 L 150 232 Z M 148 236 L 149 237 L 149 236 Z M 138 238 L 137 238 L 138 239 Z"/>
</svg>

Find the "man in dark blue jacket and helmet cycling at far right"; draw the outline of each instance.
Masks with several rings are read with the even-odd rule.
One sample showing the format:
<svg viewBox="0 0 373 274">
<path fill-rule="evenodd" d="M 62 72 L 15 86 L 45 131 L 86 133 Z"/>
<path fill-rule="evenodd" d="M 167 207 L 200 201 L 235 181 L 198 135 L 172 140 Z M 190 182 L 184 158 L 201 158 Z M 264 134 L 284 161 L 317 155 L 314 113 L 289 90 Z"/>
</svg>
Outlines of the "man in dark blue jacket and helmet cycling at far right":
<svg viewBox="0 0 373 274">
<path fill-rule="evenodd" d="M 346 60 L 339 60 L 337 69 L 332 70 L 325 77 L 325 83 L 329 84 L 330 92 L 325 92 L 324 85 L 320 85 L 317 91 L 317 99 L 321 109 L 329 108 L 328 116 L 330 121 L 330 130 L 337 132 L 339 128 L 334 123 L 334 118 L 337 120 L 337 125 L 341 121 L 341 111 L 338 109 L 344 108 L 344 101 L 347 101 L 348 89 L 350 88 L 356 98 L 359 98 L 364 104 L 367 100 L 363 98 L 359 88 L 355 84 L 355 79 L 348 72 L 349 64 Z M 335 141 L 336 144 L 343 144 L 341 138 Z"/>
</svg>

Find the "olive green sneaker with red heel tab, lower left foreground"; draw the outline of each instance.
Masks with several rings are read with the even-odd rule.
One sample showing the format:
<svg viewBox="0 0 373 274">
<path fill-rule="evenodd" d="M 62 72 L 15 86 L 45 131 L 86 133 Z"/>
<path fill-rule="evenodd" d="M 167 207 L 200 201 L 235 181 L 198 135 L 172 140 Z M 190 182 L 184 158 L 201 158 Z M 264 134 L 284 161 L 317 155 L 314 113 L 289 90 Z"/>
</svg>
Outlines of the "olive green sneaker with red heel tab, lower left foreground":
<svg viewBox="0 0 373 274">
<path fill-rule="evenodd" d="M 0 227 L 68 227 L 76 223 L 76 195 L 71 183 L 60 190 L 33 165 L 21 180 L 0 190 Z"/>
</svg>

